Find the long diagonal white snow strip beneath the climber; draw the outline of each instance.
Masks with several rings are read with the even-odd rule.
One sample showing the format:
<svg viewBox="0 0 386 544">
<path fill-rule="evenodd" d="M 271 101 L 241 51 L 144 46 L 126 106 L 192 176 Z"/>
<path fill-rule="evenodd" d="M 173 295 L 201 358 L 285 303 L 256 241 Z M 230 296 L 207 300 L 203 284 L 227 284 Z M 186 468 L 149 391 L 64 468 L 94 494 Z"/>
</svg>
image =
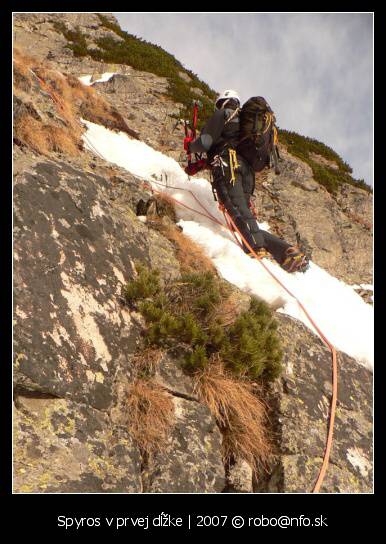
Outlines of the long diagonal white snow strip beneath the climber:
<svg viewBox="0 0 386 544">
<path fill-rule="evenodd" d="M 270 304 L 274 303 L 276 307 L 280 306 L 278 311 L 299 319 L 316 332 L 295 299 L 278 285 L 259 262 L 243 253 L 229 231 L 201 215 L 209 213 L 224 222 L 207 180 L 189 179 L 174 159 L 144 142 L 131 140 L 124 133 L 113 132 L 88 121 L 83 122 L 87 126 L 86 147 L 90 147 L 90 142 L 107 161 L 146 179 L 155 189 L 165 190 L 179 202 L 193 208 L 192 211 L 177 207 L 179 224 L 184 233 L 204 249 L 226 280 Z M 167 188 L 158 183 L 166 184 Z M 199 203 L 189 191 L 193 192 Z M 266 224 L 260 226 L 269 229 Z M 372 368 L 373 309 L 353 290 L 353 286 L 336 279 L 313 262 L 304 274 L 288 274 L 267 259 L 264 259 L 264 264 L 299 298 L 323 334 L 338 350 Z"/>
</svg>

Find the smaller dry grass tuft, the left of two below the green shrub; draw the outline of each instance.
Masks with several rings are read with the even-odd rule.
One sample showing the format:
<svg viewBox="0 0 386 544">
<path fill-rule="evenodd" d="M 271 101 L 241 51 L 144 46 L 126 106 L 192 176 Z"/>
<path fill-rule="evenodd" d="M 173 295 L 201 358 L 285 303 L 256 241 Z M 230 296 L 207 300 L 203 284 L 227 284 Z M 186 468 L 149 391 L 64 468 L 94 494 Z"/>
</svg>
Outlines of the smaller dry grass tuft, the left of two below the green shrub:
<svg viewBox="0 0 386 544">
<path fill-rule="evenodd" d="M 150 455 L 165 445 L 174 424 L 172 397 L 149 380 L 138 380 L 128 393 L 129 432 L 141 451 Z"/>
</svg>

